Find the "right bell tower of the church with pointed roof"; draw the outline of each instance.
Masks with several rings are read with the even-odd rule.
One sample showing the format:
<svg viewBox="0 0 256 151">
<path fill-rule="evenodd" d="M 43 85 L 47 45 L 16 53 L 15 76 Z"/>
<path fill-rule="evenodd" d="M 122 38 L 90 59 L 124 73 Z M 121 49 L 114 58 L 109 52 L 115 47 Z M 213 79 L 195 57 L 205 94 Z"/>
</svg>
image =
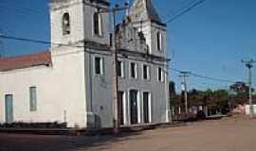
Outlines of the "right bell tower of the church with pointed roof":
<svg viewBox="0 0 256 151">
<path fill-rule="evenodd" d="M 149 53 L 158 57 L 167 55 L 167 25 L 160 19 L 151 0 L 134 0 L 130 9 L 132 23 L 142 31 Z"/>
</svg>

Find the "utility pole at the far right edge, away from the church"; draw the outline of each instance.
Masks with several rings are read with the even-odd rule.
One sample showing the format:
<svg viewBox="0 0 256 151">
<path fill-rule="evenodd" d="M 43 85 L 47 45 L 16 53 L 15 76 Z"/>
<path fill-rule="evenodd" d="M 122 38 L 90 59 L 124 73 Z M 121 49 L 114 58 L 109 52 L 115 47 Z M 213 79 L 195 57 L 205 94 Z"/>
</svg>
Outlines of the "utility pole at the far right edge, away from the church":
<svg viewBox="0 0 256 151">
<path fill-rule="evenodd" d="M 253 106 L 252 106 L 252 96 L 251 96 L 251 84 L 252 84 L 251 69 L 253 68 L 253 63 L 255 63 L 256 60 L 255 59 L 249 59 L 249 60 L 242 60 L 242 62 L 245 63 L 247 68 L 248 68 L 249 116 L 253 117 Z"/>
</svg>

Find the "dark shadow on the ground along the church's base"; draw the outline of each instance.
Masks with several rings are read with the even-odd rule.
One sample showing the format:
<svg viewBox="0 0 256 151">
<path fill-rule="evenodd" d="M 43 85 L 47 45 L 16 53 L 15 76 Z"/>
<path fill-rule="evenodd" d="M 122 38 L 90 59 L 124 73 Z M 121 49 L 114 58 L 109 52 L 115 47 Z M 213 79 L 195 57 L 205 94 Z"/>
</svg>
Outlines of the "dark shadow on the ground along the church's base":
<svg viewBox="0 0 256 151">
<path fill-rule="evenodd" d="M 124 142 L 142 132 L 123 133 L 120 136 L 42 136 L 0 133 L 0 151 L 71 151 L 107 149 L 111 143 Z"/>
</svg>

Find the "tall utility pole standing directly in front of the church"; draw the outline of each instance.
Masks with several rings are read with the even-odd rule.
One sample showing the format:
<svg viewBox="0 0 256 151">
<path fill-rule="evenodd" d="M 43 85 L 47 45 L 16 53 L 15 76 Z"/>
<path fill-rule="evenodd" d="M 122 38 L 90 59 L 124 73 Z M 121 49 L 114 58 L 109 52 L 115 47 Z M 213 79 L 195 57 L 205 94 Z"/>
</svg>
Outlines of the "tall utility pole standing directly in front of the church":
<svg viewBox="0 0 256 151">
<path fill-rule="evenodd" d="M 115 134 L 119 134 L 119 76 L 118 76 L 118 50 L 117 50 L 117 35 L 116 35 L 116 17 L 117 12 L 127 10 L 129 4 L 125 3 L 124 7 L 116 5 L 110 9 L 99 9 L 98 13 L 111 13 L 113 18 L 113 131 Z"/>
</svg>

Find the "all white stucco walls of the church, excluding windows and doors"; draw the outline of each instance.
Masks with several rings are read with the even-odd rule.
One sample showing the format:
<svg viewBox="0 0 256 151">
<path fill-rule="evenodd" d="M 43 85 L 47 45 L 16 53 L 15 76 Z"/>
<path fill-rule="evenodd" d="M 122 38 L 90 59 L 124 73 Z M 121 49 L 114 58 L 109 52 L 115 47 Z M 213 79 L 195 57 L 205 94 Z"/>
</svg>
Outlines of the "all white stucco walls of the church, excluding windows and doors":
<svg viewBox="0 0 256 151">
<path fill-rule="evenodd" d="M 96 8 L 83 6 L 82 0 L 69 1 L 67 5 L 51 6 L 51 42 L 69 44 L 52 44 L 52 66 L 38 66 L 0 73 L 0 123 L 5 122 L 5 95 L 13 94 L 13 113 L 15 122 L 67 122 L 68 126 L 85 127 L 91 121 L 87 117 L 97 117 L 99 126 L 109 127 L 112 122 L 112 80 L 113 65 L 110 52 L 75 47 L 83 45 L 84 40 L 106 44 L 109 42 L 108 15 L 103 16 L 103 36 L 93 34 L 92 12 Z M 63 35 L 62 16 L 70 14 L 71 33 Z M 138 27 L 138 26 L 137 26 Z M 138 27 L 139 28 L 139 27 Z M 162 53 L 155 49 L 156 29 L 163 32 Z M 142 28 L 151 54 L 166 57 L 166 30 L 150 22 Z M 79 42 L 79 43 L 78 43 Z M 75 43 L 75 44 L 74 44 Z M 73 45 L 72 45 L 73 44 Z M 79 50 L 80 49 L 80 50 Z M 96 48 L 97 49 L 97 46 Z M 88 53 L 86 51 L 91 51 Z M 85 54 L 84 54 L 85 53 Z M 103 59 L 103 75 L 94 76 L 94 58 Z M 124 78 L 119 79 L 119 90 L 125 92 L 125 124 L 130 124 L 129 91 L 138 92 L 139 121 L 142 121 L 142 92 L 151 93 L 153 124 L 167 122 L 168 111 L 168 77 L 165 73 L 164 82 L 157 81 L 157 68 L 165 71 L 166 62 L 146 60 L 142 57 L 120 57 L 124 61 Z M 129 77 L 129 63 L 137 63 L 137 79 Z M 155 62 L 155 63 L 154 63 Z M 142 65 L 151 66 L 151 79 L 142 79 Z M 29 110 L 29 87 L 37 88 L 37 111 Z M 66 113 L 66 115 L 65 115 Z M 65 117 L 66 116 L 66 117 Z M 64 121 L 66 119 L 66 121 Z"/>
</svg>

